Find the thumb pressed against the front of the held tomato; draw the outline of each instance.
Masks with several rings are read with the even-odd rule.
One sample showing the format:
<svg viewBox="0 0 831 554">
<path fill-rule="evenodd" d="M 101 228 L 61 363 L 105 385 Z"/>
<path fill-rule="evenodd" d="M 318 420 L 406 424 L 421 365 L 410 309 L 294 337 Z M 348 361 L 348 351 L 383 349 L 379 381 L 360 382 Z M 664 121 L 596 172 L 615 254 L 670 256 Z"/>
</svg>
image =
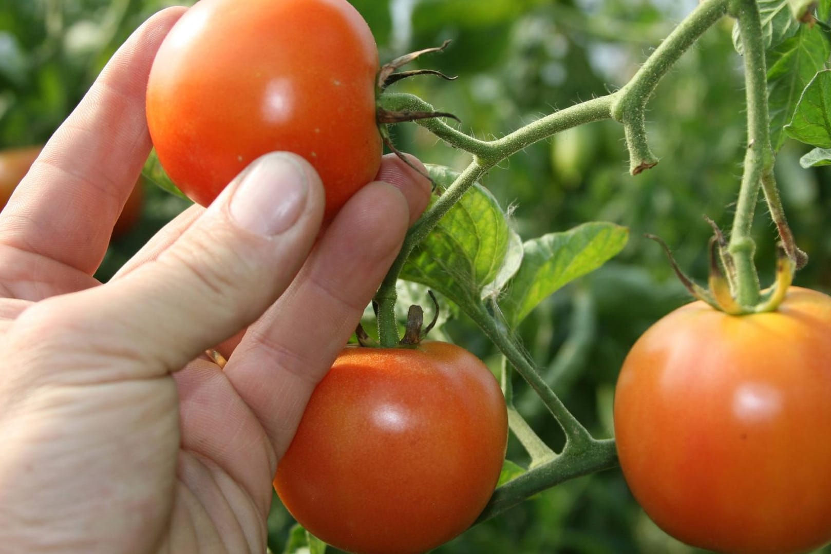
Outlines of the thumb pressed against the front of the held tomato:
<svg viewBox="0 0 831 554">
<path fill-rule="evenodd" d="M 255 321 L 288 287 L 317 237 L 323 203 L 311 165 L 267 154 L 155 261 L 32 306 L 16 323 L 41 346 L 51 336 L 70 343 L 53 345 L 64 353 L 96 355 L 96 368 L 117 368 L 122 379 L 179 370 Z"/>
</svg>

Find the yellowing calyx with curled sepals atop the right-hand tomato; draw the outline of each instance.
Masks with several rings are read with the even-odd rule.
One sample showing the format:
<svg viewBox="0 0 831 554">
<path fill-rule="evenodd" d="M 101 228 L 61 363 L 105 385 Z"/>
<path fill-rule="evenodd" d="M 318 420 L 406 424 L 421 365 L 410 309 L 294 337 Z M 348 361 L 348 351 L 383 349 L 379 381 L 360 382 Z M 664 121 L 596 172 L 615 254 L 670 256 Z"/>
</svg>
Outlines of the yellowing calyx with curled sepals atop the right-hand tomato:
<svg viewBox="0 0 831 554">
<path fill-rule="evenodd" d="M 788 256 L 782 244 L 778 245 L 778 255 L 776 262 L 776 278 L 774 284 L 765 290 L 761 291 L 760 302 L 754 306 L 742 306 L 736 301 L 736 277 L 735 262 L 731 256 L 724 233 L 718 225 L 715 224 L 711 218 L 705 217 L 707 223 L 710 223 L 713 228 L 713 236 L 710 239 L 710 274 L 707 279 L 707 288 L 701 287 L 694 282 L 690 277 L 681 270 L 675 258 L 672 257 L 672 252 L 666 243 L 656 235 L 647 234 L 647 238 L 651 238 L 656 243 L 661 245 L 664 249 L 666 257 L 670 262 L 672 271 L 675 272 L 678 280 L 684 285 L 687 291 L 696 300 L 706 302 L 712 308 L 718 311 L 723 311 L 731 316 L 743 316 L 751 313 L 764 313 L 768 311 L 776 311 L 779 305 L 784 300 L 788 288 L 794 281 L 794 272 L 796 271 L 796 263 Z"/>
</svg>

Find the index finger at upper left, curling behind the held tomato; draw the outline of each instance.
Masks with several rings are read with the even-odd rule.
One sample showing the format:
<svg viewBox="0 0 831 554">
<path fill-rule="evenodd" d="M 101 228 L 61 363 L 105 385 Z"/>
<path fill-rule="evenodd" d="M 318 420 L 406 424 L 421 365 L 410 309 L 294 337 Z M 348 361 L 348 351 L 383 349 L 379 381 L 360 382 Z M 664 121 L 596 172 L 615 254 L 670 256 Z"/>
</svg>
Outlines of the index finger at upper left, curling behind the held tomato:
<svg viewBox="0 0 831 554">
<path fill-rule="evenodd" d="M 159 12 L 116 52 L 2 211 L 0 243 L 95 272 L 150 152 L 150 65 L 184 11 Z"/>
</svg>

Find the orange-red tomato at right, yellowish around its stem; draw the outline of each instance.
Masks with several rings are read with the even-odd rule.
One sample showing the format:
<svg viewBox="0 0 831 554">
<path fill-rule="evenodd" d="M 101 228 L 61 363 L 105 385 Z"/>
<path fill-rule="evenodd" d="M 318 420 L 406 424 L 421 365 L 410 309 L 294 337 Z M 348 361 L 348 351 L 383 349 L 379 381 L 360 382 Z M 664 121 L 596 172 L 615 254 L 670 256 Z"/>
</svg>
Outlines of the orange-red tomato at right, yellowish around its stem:
<svg viewBox="0 0 831 554">
<path fill-rule="evenodd" d="M 831 540 L 831 298 L 671 312 L 617 381 L 617 449 L 638 503 L 696 547 L 807 552 Z"/>
</svg>

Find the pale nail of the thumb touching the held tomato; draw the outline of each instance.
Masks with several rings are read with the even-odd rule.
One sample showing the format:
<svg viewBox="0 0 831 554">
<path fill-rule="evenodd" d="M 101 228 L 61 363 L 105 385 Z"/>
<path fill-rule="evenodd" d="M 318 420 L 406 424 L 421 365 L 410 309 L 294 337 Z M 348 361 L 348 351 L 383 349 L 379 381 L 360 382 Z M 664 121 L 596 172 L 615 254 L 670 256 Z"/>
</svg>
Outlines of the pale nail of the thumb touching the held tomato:
<svg viewBox="0 0 831 554">
<path fill-rule="evenodd" d="M 300 217 L 307 194 L 302 167 L 285 154 L 266 154 L 243 174 L 231 199 L 231 217 L 251 233 L 284 233 Z"/>
</svg>

